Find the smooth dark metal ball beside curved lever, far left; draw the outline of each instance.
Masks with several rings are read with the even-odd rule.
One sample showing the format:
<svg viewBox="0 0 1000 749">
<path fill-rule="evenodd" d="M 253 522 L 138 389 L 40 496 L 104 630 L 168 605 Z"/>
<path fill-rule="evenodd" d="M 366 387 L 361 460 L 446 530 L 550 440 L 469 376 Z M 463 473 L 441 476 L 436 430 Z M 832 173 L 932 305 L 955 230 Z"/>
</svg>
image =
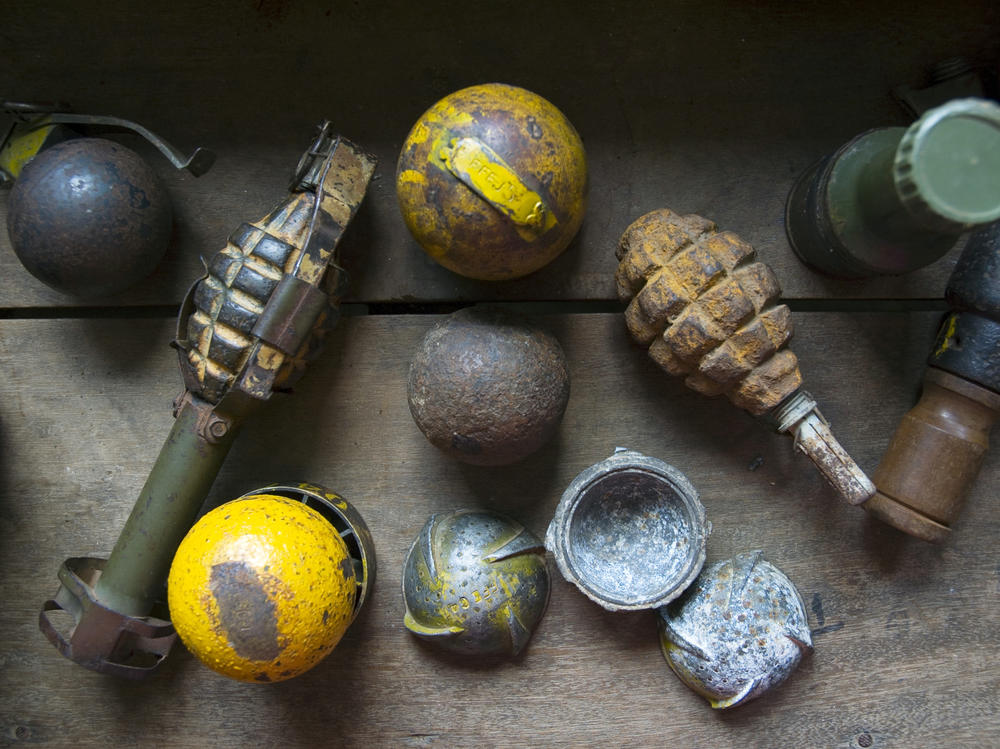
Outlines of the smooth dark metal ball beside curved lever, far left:
<svg viewBox="0 0 1000 749">
<path fill-rule="evenodd" d="M 7 232 L 31 275 L 79 297 L 149 275 L 170 241 L 170 199 L 138 154 L 100 138 L 42 151 L 11 190 Z"/>
</svg>

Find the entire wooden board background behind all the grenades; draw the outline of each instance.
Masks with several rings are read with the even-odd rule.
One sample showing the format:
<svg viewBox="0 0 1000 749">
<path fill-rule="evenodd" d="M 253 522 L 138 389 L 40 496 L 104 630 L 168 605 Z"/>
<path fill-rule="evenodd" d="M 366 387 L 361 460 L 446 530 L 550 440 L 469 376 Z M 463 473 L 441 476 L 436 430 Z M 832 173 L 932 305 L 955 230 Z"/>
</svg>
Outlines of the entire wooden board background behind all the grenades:
<svg viewBox="0 0 1000 749">
<path fill-rule="evenodd" d="M 905 124 L 890 90 L 938 60 L 995 75 L 994 2 L 87 5 L 5 8 L 0 97 L 133 119 L 218 161 L 194 179 L 116 136 L 164 177 L 176 217 L 158 270 L 113 299 L 47 289 L 0 232 L 0 745 L 1000 746 L 996 456 L 946 544 L 909 539 L 843 504 L 788 438 L 663 375 L 629 344 L 613 286 L 617 238 L 646 211 L 740 233 L 795 310 L 807 386 L 874 469 L 917 397 L 956 253 L 900 278 L 824 279 L 788 246 L 785 196 L 850 137 Z M 591 191 L 558 260 L 487 284 L 424 256 L 393 175 L 424 109 L 494 80 L 570 118 Z M 200 258 L 284 195 L 323 119 L 380 157 L 343 244 L 348 315 L 296 394 L 244 429 L 209 504 L 273 481 L 342 493 L 375 536 L 371 604 L 326 661 L 282 684 L 228 681 L 181 646 L 138 686 L 86 671 L 48 645 L 38 609 L 63 559 L 110 550 L 170 428 L 181 384 L 167 344 Z M 536 315 L 570 362 L 557 437 L 513 468 L 448 460 L 406 406 L 421 336 L 479 301 Z M 598 608 L 554 563 L 518 659 L 442 656 L 403 628 L 403 557 L 430 513 L 493 508 L 542 535 L 566 485 L 619 445 L 691 479 L 710 562 L 760 548 L 799 587 L 816 650 L 779 689 L 712 711 L 667 668 L 652 613 Z"/>
</svg>

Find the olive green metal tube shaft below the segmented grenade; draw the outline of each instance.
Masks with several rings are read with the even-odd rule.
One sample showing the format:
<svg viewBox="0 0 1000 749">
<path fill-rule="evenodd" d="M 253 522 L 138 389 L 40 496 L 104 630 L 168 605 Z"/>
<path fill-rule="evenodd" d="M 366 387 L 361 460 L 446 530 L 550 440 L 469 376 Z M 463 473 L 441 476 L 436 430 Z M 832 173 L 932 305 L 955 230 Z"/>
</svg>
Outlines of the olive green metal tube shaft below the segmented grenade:
<svg viewBox="0 0 1000 749">
<path fill-rule="evenodd" d="M 198 428 L 198 403 L 193 398 L 184 401 L 97 581 L 96 597 L 112 611 L 136 617 L 149 614 L 162 595 L 174 553 L 194 524 L 239 431 L 233 425 L 213 441 L 205 439 Z"/>
</svg>

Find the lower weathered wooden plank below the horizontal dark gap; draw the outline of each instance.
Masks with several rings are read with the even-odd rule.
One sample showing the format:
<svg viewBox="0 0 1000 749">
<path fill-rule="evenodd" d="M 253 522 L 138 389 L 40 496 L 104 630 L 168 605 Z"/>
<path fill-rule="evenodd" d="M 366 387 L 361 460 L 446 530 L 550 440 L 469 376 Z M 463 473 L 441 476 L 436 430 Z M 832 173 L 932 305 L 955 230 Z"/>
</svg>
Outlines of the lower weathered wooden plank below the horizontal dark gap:
<svg viewBox="0 0 1000 749">
<path fill-rule="evenodd" d="M 872 469 L 913 403 L 937 315 L 803 313 L 806 383 Z M 375 537 L 374 596 L 304 676 L 231 682 L 177 646 L 140 684 L 63 659 L 37 629 L 68 556 L 106 553 L 170 427 L 173 321 L 0 322 L 0 745 L 997 746 L 1000 560 L 988 456 L 953 538 L 909 539 L 840 502 L 787 437 L 670 380 L 617 314 L 551 315 L 572 374 L 556 439 L 513 468 L 461 465 L 420 434 L 406 372 L 437 316 L 345 319 L 293 396 L 240 435 L 218 504 L 273 481 L 348 497 Z M 427 516 L 506 512 L 543 534 L 563 489 L 615 446 L 698 488 L 709 561 L 760 548 L 797 584 L 815 653 L 717 713 L 665 665 L 650 612 L 613 614 L 550 559 L 548 613 L 521 657 L 444 656 L 402 625 L 404 555 Z"/>
</svg>

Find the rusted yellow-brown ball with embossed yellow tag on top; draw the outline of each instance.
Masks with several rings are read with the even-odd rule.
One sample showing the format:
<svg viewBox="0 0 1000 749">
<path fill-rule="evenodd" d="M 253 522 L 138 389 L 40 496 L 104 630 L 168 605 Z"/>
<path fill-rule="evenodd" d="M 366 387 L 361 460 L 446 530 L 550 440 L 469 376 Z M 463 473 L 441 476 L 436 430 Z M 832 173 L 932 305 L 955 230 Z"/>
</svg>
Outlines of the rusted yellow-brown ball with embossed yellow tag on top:
<svg viewBox="0 0 1000 749">
<path fill-rule="evenodd" d="M 410 232 L 470 278 L 519 278 L 570 243 L 586 211 L 583 142 L 552 103 L 488 83 L 446 96 L 417 121 L 396 167 Z"/>
</svg>

